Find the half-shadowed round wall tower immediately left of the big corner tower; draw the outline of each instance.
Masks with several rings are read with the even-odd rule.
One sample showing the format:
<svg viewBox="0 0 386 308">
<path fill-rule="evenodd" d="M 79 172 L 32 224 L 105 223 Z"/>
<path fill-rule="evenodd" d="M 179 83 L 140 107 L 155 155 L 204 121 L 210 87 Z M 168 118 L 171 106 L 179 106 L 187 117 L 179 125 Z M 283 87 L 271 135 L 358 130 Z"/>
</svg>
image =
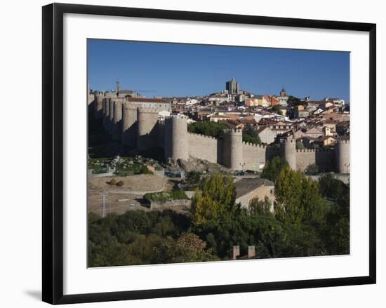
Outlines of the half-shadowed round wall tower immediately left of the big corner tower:
<svg viewBox="0 0 386 308">
<path fill-rule="evenodd" d="M 139 107 L 137 114 L 137 149 L 144 151 L 157 144 L 156 126 L 158 110 L 155 108 Z"/>
</svg>

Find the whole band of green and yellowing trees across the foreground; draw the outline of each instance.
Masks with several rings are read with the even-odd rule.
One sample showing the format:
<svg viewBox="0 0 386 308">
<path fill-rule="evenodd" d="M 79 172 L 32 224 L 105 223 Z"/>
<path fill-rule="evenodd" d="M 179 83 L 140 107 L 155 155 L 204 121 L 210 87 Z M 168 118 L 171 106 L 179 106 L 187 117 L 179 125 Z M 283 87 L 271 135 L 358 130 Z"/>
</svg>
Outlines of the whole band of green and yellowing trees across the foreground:
<svg viewBox="0 0 386 308">
<path fill-rule="evenodd" d="M 129 211 L 89 216 L 89 265 L 112 266 L 228 260 L 232 246 L 258 257 L 350 253 L 349 187 L 332 175 L 319 182 L 288 168 L 279 157 L 262 176 L 274 181 L 276 201 L 236 203 L 230 175 L 203 180 L 192 199 L 192 215 Z M 271 208 L 274 208 L 274 212 Z"/>
</svg>

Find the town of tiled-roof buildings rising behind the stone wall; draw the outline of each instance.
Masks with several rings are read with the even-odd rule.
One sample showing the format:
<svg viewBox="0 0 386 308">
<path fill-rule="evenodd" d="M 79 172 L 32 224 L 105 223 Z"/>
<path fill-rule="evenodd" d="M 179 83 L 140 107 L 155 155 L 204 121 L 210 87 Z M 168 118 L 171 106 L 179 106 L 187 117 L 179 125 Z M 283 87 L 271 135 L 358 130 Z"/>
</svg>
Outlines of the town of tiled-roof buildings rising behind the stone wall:
<svg viewBox="0 0 386 308">
<path fill-rule="evenodd" d="M 196 97 L 145 98 L 130 90 L 90 93 L 88 104 L 98 113 L 107 114 L 114 121 L 114 102 L 132 103 L 138 107 L 155 108 L 158 119 L 185 115 L 188 123 L 213 121 L 229 128 L 245 130 L 251 126 L 258 131 L 262 144 L 295 138 L 298 148 L 317 149 L 335 145 L 338 140 L 350 140 L 350 103 L 340 98 L 312 100 L 295 98 L 282 88 L 278 95 L 255 95 L 240 90 L 235 79 L 225 83 L 225 90 Z M 114 105 L 113 105 L 114 106 Z M 109 114 L 109 108 L 112 114 Z M 119 110 L 116 121 L 122 121 Z M 117 128 L 125 130 L 126 127 Z M 126 140 L 122 140 L 125 142 Z M 302 145 L 300 145 L 302 143 Z"/>
</svg>

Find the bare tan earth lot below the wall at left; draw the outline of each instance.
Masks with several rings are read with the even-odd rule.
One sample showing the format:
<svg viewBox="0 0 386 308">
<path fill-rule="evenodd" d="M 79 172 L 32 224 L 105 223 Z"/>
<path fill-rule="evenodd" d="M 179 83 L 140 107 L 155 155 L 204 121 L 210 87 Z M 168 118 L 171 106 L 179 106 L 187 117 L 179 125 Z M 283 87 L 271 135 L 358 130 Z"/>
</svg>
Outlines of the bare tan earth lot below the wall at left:
<svg viewBox="0 0 386 308">
<path fill-rule="evenodd" d="M 123 181 L 124 186 L 109 185 L 110 180 Z M 158 175 L 89 178 L 88 212 L 102 214 L 102 192 L 106 195 L 106 213 L 126 213 L 127 210 L 148 210 L 142 199 L 145 192 L 170 190 L 173 183 Z"/>
</svg>

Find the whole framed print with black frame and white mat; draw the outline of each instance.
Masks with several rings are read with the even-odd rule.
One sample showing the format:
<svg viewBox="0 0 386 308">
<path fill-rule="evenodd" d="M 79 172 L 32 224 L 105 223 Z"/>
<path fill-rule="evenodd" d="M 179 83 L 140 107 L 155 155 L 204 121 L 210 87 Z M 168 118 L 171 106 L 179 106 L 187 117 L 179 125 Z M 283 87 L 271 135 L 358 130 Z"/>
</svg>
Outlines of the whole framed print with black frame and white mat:
<svg viewBox="0 0 386 308">
<path fill-rule="evenodd" d="M 43 7 L 43 300 L 375 283 L 375 25 Z"/>
</svg>

